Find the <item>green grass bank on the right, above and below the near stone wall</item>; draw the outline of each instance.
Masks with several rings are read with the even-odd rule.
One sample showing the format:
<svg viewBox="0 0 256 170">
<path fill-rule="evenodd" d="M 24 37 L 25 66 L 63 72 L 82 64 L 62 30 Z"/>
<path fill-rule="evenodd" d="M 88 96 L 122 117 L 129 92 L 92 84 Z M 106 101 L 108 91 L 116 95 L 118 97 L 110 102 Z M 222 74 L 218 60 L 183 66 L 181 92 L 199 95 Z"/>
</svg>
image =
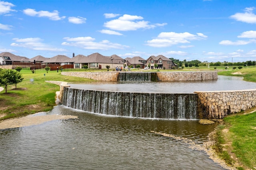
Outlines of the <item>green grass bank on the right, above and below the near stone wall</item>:
<svg viewBox="0 0 256 170">
<path fill-rule="evenodd" d="M 256 67 L 219 72 L 218 75 L 240 76 L 256 82 Z M 256 89 L 256 87 L 255 87 Z M 213 146 L 226 164 L 237 169 L 256 169 L 256 107 L 229 115 L 216 129 Z"/>
</svg>

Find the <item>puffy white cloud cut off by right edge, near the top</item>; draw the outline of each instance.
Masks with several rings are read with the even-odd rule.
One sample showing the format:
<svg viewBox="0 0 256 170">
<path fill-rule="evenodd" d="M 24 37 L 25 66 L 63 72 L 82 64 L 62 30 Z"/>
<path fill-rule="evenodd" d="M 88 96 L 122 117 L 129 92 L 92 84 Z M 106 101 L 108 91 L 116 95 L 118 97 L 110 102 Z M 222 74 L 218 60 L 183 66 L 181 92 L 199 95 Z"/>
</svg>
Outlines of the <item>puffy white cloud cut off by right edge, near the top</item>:
<svg viewBox="0 0 256 170">
<path fill-rule="evenodd" d="M 230 16 L 230 18 L 235 19 L 237 21 L 241 21 L 241 22 L 256 24 L 256 15 L 254 13 L 252 13 L 252 11 L 254 9 L 255 9 L 254 7 L 245 8 L 244 13 L 238 12 L 238 13 Z"/>
</svg>

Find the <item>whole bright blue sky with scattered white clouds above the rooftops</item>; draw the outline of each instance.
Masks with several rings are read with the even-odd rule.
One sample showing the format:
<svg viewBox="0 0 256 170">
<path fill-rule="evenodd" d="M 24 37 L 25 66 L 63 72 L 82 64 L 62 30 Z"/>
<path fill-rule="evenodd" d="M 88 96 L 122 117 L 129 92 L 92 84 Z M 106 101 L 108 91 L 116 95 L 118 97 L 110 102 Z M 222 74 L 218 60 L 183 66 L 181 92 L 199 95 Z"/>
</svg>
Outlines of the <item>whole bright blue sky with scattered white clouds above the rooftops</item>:
<svg viewBox="0 0 256 170">
<path fill-rule="evenodd" d="M 256 60 L 256 0 L 0 0 L 0 52 Z"/>
</svg>

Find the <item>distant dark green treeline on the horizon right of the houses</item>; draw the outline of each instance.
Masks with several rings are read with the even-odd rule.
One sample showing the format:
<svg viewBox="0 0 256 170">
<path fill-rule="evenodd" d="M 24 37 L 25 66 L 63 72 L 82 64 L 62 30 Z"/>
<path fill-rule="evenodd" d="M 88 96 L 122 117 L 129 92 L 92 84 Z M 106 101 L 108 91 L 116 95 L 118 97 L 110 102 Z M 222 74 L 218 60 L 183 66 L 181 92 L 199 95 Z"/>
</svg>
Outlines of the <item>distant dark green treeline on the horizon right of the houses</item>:
<svg viewBox="0 0 256 170">
<path fill-rule="evenodd" d="M 244 61 L 244 62 L 227 62 L 227 61 L 224 61 L 224 62 L 208 62 L 208 61 L 204 61 L 204 62 L 201 62 L 199 60 L 192 60 L 192 61 L 186 61 L 186 59 L 184 59 L 183 61 L 180 61 L 179 59 L 174 59 L 174 58 L 169 58 L 171 59 L 175 64 L 178 65 L 178 67 L 182 67 L 182 66 L 185 66 L 185 67 L 192 67 L 192 66 L 195 66 L 195 67 L 199 67 L 199 66 L 232 66 L 232 65 L 236 65 L 236 66 L 249 66 L 250 65 L 256 65 L 256 61 Z"/>
</svg>

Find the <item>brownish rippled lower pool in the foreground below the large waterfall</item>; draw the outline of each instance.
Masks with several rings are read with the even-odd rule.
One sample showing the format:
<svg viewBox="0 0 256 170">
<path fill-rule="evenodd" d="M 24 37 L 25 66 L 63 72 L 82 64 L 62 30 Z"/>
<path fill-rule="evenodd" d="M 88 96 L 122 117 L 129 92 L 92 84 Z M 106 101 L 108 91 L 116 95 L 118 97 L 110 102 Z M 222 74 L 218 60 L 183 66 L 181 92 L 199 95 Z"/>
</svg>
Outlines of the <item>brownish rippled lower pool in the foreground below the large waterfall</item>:
<svg viewBox="0 0 256 170">
<path fill-rule="evenodd" d="M 193 150 L 189 142 L 202 145 L 216 124 L 110 117 L 64 106 L 47 114 L 77 115 L 78 119 L 0 130 L 1 170 L 223 169 L 205 152 Z"/>
</svg>

